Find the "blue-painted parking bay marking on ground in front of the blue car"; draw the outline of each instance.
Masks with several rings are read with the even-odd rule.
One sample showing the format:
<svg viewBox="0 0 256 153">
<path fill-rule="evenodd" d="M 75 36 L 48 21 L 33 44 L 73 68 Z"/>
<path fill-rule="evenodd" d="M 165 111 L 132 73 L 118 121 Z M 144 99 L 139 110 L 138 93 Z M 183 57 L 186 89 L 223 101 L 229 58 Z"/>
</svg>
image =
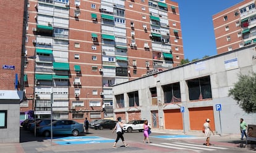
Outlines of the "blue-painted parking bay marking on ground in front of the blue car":
<svg viewBox="0 0 256 153">
<path fill-rule="evenodd" d="M 114 139 L 103 138 L 100 136 L 69 136 L 54 139 L 54 143 L 60 145 L 70 144 L 93 144 L 93 143 L 114 143 Z"/>
</svg>

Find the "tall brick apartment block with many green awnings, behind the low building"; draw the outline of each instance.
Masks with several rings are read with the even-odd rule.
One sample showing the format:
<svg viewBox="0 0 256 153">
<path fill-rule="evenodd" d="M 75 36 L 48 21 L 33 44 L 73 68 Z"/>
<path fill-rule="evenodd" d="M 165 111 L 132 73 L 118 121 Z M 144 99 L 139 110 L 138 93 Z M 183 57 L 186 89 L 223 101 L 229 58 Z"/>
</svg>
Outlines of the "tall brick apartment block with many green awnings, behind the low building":
<svg viewBox="0 0 256 153">
<path fill-rule="evenodd" d="M 83 122 L 113 118 L 115 84 L 179 65 L 172 1 L 28 0 L 25 109 Z"/>
</svg>

